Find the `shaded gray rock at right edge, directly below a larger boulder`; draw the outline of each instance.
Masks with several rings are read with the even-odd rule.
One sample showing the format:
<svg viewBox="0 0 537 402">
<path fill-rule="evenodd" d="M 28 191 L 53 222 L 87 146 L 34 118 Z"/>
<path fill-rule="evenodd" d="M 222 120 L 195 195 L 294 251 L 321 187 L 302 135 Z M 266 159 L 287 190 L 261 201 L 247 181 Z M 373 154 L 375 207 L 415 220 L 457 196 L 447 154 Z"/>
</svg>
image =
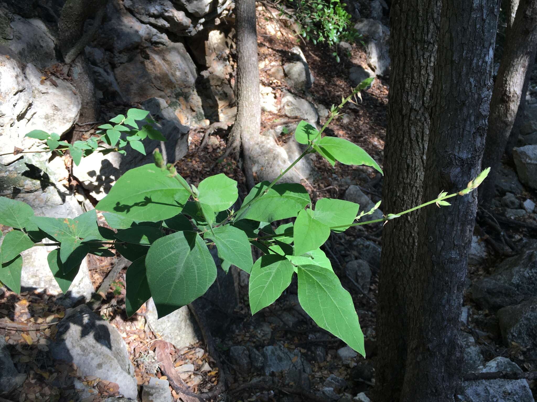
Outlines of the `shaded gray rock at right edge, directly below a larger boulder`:
<svg viewBox="0 0 537 402">
<path fill-rule="evenodd" d="M 499 309 L 498 319 L 504 345 L 517 343 L 530 358 L 537 359 L 537 297 Z"/>
</svg>

